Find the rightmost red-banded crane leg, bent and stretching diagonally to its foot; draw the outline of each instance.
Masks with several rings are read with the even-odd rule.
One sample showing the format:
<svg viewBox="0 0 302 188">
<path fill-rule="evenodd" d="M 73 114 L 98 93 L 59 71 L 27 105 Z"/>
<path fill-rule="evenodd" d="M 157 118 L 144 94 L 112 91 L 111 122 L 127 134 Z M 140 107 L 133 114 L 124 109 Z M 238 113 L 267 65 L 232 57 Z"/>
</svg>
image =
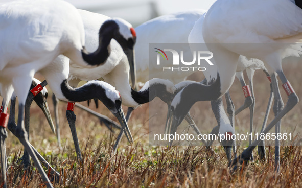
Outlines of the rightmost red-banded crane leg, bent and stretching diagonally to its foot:
<svg viewBox="0 0 302 188">
<path fill-rule="evenodd" d="M 286 88 L 286 92 L 288 95 L 288 101 L 285 105 L 285 107 L 274 117 L 274 119 L 269 123 L 269 125 L 263 130 L 263 134 L 266 135 L 269 130 L 271 128 L 273 128 L 273 126 L 275 126 L 281 119 L 282 117 L 289 112 L 298 102 L 299 102 L 299 98 L 296 95 L 295 91 L 293 90 L 293 88 L 290 86 L 288 80 L 286 79 L 284 73 L 281 71 L 277 72 L 278 76 L 280 77 L 282 83 L 283 83 L 283 87 Z M 272 75 L 273 77 L 274 75 Z M 276 95 L 277 92 L 277 82 L 275 78 L 272 78 L 272 85 L 273 85 L 273 92 L 274 95 Z M 275 97 L 275 99 L 277 99 L 278 97 Z M 280 106 L 281 103 L 279 102 L 279 104 L 276 103 L 275 100 L 275 105 L 274 108 L 275 109 L 281 109 L 282 106 Z M 238 165 L 242 165 L 242 163 L 244 162 L 248 162 L 250 159 L 250 155 L 253 151 L 253 149 L 261 142 L 260 139 L 260 135 L 258 136 L 258 138 L 252 143 L 252 145 L 250 145 L 247 149 L 245 149 L 241 155 L 237 158 L 235 158 L 233 161 L 231 161 L 229 163 L 229 166 L 231 167 L 231 170 L 234 171 L 238 168 Z M 278 144 L 278 143 L 276 143 Z M 275 152 L 276 154 L 278 154 L 278 152 Z M 280 161 L 279 161 L 279 156 L 275 156 L 275 171 L 278 172 L 280 170 Z"/>
</svg>

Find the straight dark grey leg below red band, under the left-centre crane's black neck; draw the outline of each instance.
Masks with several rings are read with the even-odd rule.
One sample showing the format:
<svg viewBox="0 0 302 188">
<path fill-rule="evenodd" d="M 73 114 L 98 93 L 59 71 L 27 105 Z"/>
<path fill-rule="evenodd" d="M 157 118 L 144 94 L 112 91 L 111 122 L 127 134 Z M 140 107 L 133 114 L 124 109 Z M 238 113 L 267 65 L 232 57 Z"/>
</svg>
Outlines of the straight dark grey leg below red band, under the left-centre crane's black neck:
<svg viewBox="0 0 302 188">
<path fill-rule="evenodd" d="M 79 145 L 79 140 L 78 140 L 77 130 L 76 130 L 77 116 L 74 113 L 74 111 L 66 110 L 66 117 L 67 117 L 69 127 L 71 129 L 72 135 L 73 135 L 73 140 L 74 140 L 74 145 L 75 145 L 78 160 L 80 162 L 82 162 L 83 158 L 82 158 L 82 155 L 81 155 L 81 150 L 80 150 L 80 145 Z"/>
</svg>

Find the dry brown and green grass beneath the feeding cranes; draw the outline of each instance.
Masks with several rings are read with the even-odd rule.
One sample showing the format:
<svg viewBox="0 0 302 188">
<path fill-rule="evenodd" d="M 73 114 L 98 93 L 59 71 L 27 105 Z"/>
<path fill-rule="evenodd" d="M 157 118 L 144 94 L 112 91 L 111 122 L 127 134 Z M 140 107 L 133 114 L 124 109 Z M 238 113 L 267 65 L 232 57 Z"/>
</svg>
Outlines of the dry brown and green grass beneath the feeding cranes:
<svg viewBox="0 0 302 188">
<path fill-rule="evenodd" d="M 284 70 L 297 95 L 302 99 L 300 81 L 301 63 L 284 64 Z M 268 81 L 261 72 L 255 74 L 255 116 L 254 125 L 259 131 L 269 96 Z M 281 91 L 286 100 L 284 91 Z M 231 97 L 238 108 L 244 96 L 238 81 L 231 87 Z M 82 103 L 86 105 L 86 103 Z M 283 119 L 284 130 L 299 133 L 301 127 L 302 103 L 299 102 Z M 53 105 L 49 99 L 49 106 Z M 92 104 L 90 108 L 95 109 Z M 209 102 L 197 103 L 202 108 L 193 109 L 196 123 L 200 129 L 210 131 L 217 125 Z M 261 164 L 256 151 L 255 160 L 244 170 L 230 174 L 228 161 L 223 148 L 214 147 L 211 154 L 204 147 L 149 146 L 148 140 L 148 105 L 135 110 L 129 126 L 134 137 L 130 145 L 122 139 L 117 154 L 112 154 L 117 131 L 111 134 L 98 119 L 86 112 L 75 109 L 77 114 L 77 131 L 83 164 L 78 163 L 72 135 L 65 118 L 66 104 L 59 106 L 62 147 L 57 145 L 56 136 L 52 134 L 41 110 L 33 104 L 31 108 L 31 144 L 62 175 L 62 179 L 53 183 L 55 187 L 302 187 L 302 149 L 300 146 L 281 147 L 281 172 L 274 174 L 274 147 L 268 146 L 267 162 Z M 101 105 L 98 112 L 113 118 L 113 115 Z M 126 110 L 126 108 L 124 108 Z M 273 113 L 270 114 L 270 120 Z M 114 119 L 114 118 L 113 118 Z M 115 119 L 116 121 L 116 119 Z M 244 110 L 236 119 L 236 131 L 244 132 L 249 125 L 249 111 Z M 205 129 L 207 128 L 207 129 Z M 297 136 L 299 139 L 300 136 Z M 34 165 L 25 171 L 17 159 L 22 155 L 22 145 L 11 133 L 7 142 L 8 186 L 9 187 L 43 187 Z M 241 153 L 246 146 L 238 147 Z M 45 169 L 45 171 L 47 171 Z"/>
</svg>

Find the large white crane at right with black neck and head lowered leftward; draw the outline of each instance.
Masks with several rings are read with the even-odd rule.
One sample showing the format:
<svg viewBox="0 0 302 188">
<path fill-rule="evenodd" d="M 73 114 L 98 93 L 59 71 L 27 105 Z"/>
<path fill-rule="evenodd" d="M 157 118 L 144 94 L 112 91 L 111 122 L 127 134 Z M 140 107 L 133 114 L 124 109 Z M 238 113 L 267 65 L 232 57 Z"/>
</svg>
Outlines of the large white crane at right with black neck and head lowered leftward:
<svg viewBox="0 0 302 188">
<path fill-rule="evenodd" d="M 217 79 L 210 86 L 188 85 L 175 96 L 172 101 L 172 125 L 176 127 L 182 121 L 184 112 L 188 112 L 196 101 L 215 100 L 228 91 L 234 81 L 241 54 L 260 59 L 268 65 L 266 67 L 271 75 L 274 92 L 275 118 L 262 133 L 266 134 L 274 125 L 276 133 L 279 133 L 280 120 L 298 103 L 298 97 L 283 73 L 281 62 L 286 56 L 299 56 L 301 47 L 297 43 L 302 39 L 302 21 L 299 19 L 301 16 L 301 8 L 290 0 L 216 1 L 205 16 L 202 34 L 208 49 L 219 54 L 214 56 L 218 67 Z M 243 42 L 249 45 L 244 45 Z M 284 108 L 277 85 L 277 75 L 288 95 Z M 191 93 L 193 88 L 195 92 Z M 238 158 L 230 162 L 230 165 L 237 168 L 238 161 L 249 161 L 252 150 L 260 140 L 258 137 Z M 275 170 L 278 172 L 280 140 L 276 141 L 275 145 Z"/>
</svg>

